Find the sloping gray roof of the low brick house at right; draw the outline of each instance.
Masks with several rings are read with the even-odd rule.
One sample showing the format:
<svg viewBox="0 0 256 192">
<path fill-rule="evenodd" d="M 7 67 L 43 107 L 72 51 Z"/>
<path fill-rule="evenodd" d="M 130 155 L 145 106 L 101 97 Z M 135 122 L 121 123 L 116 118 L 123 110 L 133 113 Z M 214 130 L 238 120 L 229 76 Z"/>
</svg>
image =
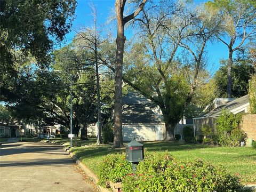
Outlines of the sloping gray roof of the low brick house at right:
<svg viewBox="0 0 256 192">
<path fill-rule="evenodd" d="M 236 109 L 238 107 L 241 107 L 241 106 L 243 106 L 247 103 L 249 103 L 249 95 L 248 94 L 241 97 L 241 98 L 230 101 L 230 102 L 228 102 L 224 105 L 221 105 L 221 106 L 219 106 L 219 107 L 217 107 L 217 108 L 215 108 L 215 109 L 213 109 L 209 112 L 203 113 L 203 114 L 195 117 L 194 119 L 196 119 L 196 118 L 207 118 L 207 117 L 218 117 L 218 116 L 221 115 L 221 111 L 223 109 L 225 109 L 227 111 L 231 111 L 231 110 Z"/>
</svg>

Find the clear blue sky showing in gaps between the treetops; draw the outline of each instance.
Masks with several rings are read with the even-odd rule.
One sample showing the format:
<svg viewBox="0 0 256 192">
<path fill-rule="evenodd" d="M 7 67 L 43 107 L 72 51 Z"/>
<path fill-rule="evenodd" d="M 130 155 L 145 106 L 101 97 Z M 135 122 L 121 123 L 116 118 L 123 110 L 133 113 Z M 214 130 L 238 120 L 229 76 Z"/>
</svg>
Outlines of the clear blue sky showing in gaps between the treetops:
<svg viewBox="0 0 256 192">
<path fill-rule="evenodd" d="M 196 3 L 203 3 L 205 0 L 196 0 Z M 76 7 L 76 18 L 73 21 L 73 29 L 78 29 L 81 26 L 93 26 L 93 17 L 91 14 L 90 3 L 93 3 L 98 12 L 98 23 L 106 23 L 111 13 L 111 10 L 114 9 L 115 1 L 114 0 L 77 0 Z M 127 33 L 127 31 L 126 31 Z M 75 31 L 72 30 L 69 34 L 66 35 L 65 44 L 71 42 L 75 35 Z M 113 34 L 116 34 L 116 29 L 113 29 Z M 129 36 L 129 34 L 126 34 Z M 207 47 L 209 67 L 208 69 L 213 74 L 219 68 L 220 59 L 228 58 L 228 50 L 226 45 L 222 43 L 214 42 L 214 44 L 209 43 Z"/>
</svg>

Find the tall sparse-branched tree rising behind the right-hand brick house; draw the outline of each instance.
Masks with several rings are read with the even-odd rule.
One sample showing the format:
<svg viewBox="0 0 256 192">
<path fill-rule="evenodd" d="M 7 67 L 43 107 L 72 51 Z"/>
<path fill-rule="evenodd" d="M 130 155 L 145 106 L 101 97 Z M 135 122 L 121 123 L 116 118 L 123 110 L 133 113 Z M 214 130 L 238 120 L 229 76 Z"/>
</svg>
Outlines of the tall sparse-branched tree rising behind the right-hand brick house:
<svg viewBox="0 0 256 192">
<path fill-rule="evenodd" d="M 256 35 L 256 7 L 253 0 L 214 0 L 206 6 L 218 10 L 219 17 L 225 26 L 224 32 L 218 36 L 220 42 L 228 47 L 227 97 L 231 98 L 233 54 L 241 50 L 249 38 Z"/>
</svg>

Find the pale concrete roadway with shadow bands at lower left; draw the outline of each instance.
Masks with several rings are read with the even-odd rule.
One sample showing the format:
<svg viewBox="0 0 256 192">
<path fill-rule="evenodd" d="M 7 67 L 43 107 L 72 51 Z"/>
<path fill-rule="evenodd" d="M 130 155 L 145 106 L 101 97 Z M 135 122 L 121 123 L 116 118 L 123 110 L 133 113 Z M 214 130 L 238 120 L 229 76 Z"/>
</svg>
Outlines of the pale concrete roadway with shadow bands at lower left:
<svg viewBox="0 0 256 192">
<path fill-rule="evenodd" d="M 0 191 L 97 191 L 62 148 L 39 142 L 2 144 Z"/>
</svg>

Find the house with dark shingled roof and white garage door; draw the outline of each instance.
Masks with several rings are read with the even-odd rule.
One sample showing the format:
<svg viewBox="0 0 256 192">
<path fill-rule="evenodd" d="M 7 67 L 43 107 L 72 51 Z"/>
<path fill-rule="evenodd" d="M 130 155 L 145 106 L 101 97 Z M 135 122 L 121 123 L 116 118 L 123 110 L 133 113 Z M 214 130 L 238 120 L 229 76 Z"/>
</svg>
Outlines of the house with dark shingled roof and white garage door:
<svg viewBox="0 0 256 192">
<path fill-rule="evenodd" d="M 159 141 L 165 138 L 162 111 L 150 99 L 130 92 L 122 99 L 123 140 Z M 182 135 L 185 125 L 177 125 L 174 134 Z"/>
</svg>

